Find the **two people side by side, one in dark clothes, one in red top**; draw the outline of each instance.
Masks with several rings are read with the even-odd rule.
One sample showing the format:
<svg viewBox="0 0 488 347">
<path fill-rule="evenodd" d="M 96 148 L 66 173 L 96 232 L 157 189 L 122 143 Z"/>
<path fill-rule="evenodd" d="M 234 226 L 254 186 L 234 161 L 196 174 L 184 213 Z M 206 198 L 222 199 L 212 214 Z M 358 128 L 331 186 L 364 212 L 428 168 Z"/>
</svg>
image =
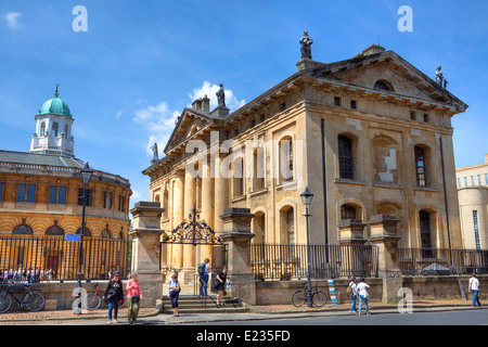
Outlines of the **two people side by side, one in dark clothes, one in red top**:
<svg viewBox="0 0 488 347">
<path fill-rule="evenodd" d="M 118 307 L 126 299 L 129 323 L 136 323 L 139 314 L 139 305 L 142 299 L 141 287 L 138 281 L 138 272 L 131 272 L 130 280 L 127 281 L 126 295 L 124 296 L 120 272 L 115 271 L 108 281 L 105 293 L 103 294 L 103 299 L 108 303 L 108 324 L 112 324 L 113 322 L 118 323 Z"/>
</svg>

